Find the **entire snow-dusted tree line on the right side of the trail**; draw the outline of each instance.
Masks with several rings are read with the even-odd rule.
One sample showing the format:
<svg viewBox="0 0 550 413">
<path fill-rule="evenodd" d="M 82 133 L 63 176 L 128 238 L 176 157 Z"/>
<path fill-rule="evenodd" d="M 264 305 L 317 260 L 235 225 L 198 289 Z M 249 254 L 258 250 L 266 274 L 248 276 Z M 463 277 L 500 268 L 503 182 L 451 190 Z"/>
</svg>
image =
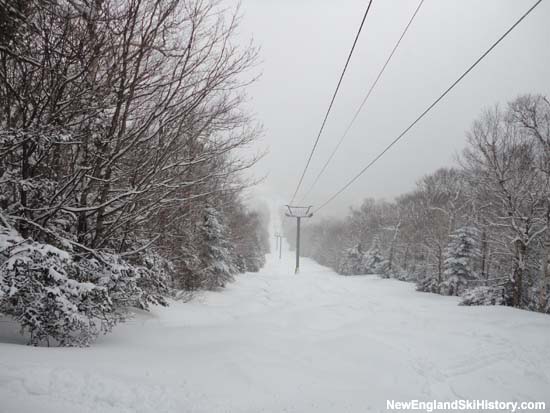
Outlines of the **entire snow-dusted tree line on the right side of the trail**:
<svg viewBox="0 0 550 413">
<path fill-rule="evenodd" d="M 459 167 L 424 176 L 393 202 L 367 198 L 344 220 L 312 220 L 302 251 L 341 274 L 550 312 L 549 221 L 550 101 L 525 95 L 481 114 Z"/>
</svg>

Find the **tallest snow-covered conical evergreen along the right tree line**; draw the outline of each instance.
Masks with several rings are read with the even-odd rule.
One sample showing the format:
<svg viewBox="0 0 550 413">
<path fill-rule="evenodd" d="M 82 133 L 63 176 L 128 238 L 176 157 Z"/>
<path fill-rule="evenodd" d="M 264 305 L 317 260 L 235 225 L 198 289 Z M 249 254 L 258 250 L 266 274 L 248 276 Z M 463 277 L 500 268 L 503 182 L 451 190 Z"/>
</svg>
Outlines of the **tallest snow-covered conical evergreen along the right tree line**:
<svg viewBox="0 0 550 413">
<path fill-rule="evenodd" d="M 451 234 L 450 238 L 444 262 L 445 281 L 441 285 L 441 293 L 461 295 L 468 285 L 477 279 L 472 268 L 473 260 L 480 255 L 477 230 L 462 227 Z"/>
</svg>

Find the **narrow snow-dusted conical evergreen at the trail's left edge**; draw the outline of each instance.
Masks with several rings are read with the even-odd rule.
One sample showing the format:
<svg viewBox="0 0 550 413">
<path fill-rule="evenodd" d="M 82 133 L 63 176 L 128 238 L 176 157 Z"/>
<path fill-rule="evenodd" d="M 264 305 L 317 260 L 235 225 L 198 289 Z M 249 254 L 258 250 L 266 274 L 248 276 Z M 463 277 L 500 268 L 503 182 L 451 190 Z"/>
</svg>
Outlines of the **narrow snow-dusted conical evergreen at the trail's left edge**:
<svg viewBox="0 0 550 413">
<path fill-rule="evenodd" d="M 206 208 L 199 226 L 202 242 L 199 248 L 198 276 L 202 288 L 223 288 L 233 281 L 233 275 L 237 273 L 228 232 L 220 212 L 215 208 Z"/>
</svg>

